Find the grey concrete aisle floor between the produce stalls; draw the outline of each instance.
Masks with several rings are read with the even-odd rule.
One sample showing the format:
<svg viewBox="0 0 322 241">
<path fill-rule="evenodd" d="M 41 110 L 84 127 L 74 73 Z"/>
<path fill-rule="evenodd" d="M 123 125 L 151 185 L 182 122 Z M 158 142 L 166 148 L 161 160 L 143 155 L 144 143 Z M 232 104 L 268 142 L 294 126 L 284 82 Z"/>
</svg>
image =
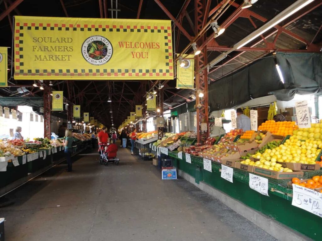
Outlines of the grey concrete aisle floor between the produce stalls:
<svg viewBox="0 0 322 241">
<path fill-rule="evenodd" d="M 161 180 L 129 149 L 118 157 L 106 167 L 81 154 L 74 172 L 61 164 L 7 194 L 5 240 L 276 240 L 184 179 Z"/>
</svg>

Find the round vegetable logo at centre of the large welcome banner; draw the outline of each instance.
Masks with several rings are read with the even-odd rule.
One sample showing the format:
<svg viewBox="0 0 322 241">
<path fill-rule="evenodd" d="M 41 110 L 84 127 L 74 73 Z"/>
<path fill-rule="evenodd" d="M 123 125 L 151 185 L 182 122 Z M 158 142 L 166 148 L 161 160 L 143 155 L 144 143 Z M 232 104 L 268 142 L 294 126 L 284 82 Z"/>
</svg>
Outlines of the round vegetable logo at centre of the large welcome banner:
<svg viewBox="0 0 322 241">
<path fill-rule="evenodd" d="M 81 53 L 90 64 L 103 65 L 112 58 L 113 47 L 107 38 L 93 35 L 84 41 L 81 46 Z"/>
</svg>

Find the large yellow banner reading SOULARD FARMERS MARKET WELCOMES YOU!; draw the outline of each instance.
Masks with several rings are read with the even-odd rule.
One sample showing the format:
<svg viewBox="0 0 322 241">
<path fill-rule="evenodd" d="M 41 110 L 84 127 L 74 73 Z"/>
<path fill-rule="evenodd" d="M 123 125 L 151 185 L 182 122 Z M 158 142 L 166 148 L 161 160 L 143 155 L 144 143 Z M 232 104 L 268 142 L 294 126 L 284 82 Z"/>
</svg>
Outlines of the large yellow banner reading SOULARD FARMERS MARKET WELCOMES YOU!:
<svg viewBox="0 0 322 241">
<path fill-rule="evenodd" d="M 171 21 L 15 16 L 15 79 L 173 79 Z"/>
</svg>

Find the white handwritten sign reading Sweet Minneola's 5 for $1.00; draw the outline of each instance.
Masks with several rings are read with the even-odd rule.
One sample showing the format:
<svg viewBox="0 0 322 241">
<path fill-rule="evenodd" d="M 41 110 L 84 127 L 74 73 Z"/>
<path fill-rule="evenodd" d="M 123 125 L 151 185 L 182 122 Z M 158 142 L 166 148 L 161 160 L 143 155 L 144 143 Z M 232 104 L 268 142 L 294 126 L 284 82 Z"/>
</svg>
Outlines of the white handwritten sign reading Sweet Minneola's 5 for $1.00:
<svg viewBox="0 0 322 241">
<path fill-rule="evenodd" d="M 322 193 L 293 184 L 292 205 L 322 217 Z"/>
</svg>

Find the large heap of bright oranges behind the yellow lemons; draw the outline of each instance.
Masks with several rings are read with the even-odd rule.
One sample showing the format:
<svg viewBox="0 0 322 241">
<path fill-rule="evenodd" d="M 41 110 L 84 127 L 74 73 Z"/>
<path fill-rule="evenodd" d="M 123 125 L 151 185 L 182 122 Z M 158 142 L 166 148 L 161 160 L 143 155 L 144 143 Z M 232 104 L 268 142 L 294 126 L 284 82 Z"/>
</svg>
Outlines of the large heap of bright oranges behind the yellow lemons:
<svg viewBox="0 0 322 241">
<path fill-rule="evenodd" d="M 293 130 L 298 129 L 298 126 L 295 121 L 265 121 L 258 129 L 270 131 L 274 135 L 287 136 L 293 135 Z"/>
</svg>

